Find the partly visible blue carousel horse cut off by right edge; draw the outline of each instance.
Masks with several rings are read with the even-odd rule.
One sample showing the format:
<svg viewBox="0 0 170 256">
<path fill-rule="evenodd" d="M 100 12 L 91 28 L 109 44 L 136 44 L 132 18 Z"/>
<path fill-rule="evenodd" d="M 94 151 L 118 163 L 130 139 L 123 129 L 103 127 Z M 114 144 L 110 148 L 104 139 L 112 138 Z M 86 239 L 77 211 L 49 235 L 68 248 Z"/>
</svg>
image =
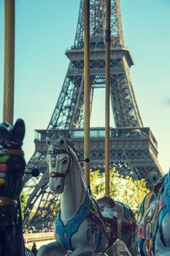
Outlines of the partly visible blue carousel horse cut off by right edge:
<svg viewBox="0 0 170 256">
<path fill-rule="evenodd" d="M 170 170 L 144 197 L 136 229 L 138 255 L 170 255 Z"/>
</svg>

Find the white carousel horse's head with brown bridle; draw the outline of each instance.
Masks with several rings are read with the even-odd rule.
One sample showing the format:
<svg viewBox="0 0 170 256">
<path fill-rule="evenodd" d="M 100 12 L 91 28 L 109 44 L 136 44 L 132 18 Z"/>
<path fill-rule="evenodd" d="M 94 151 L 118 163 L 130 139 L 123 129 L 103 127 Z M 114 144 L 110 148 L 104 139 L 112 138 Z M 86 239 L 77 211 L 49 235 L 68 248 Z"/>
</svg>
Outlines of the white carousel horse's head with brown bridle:
<svg viewBox="0 0 170 256">
<path fill-rule="evenodd" d="M 50 173 L 50 190 L 54 194 L 61 194 L 66 183 L 66 176 L 72 169 L 72 152 L 68 146 L 69 140 L 60 136 L 58 140 L 46 138 L 48 151 L 46 161 Z"/>
</svg>

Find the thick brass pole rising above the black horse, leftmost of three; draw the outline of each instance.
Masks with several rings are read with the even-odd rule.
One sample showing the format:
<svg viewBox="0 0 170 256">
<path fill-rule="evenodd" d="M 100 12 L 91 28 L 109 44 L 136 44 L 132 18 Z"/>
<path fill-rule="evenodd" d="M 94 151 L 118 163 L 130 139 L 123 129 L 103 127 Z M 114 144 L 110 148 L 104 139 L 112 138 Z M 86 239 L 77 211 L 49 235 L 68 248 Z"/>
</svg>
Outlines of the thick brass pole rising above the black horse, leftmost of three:
<svg viewBox="0 0 170 256">
<path fill-rule="evenodd" d="M 15 71 L 15 0 L 4 0 L 4 107 L 3 121 L 13 125 Z"/>
</svg>

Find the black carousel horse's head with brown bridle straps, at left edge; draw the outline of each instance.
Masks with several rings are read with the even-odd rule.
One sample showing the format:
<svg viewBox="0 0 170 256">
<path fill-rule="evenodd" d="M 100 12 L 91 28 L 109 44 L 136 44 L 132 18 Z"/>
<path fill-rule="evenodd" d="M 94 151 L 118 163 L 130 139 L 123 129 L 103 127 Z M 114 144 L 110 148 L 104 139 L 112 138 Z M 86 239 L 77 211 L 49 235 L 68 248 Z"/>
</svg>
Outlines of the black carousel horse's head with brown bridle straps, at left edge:
<svg viewBox="0 0 170 256">
<path fill-rule="evenodd" d="M 20 216 L 20 192 L 26 162 L 21 146 L 25 124 L 0 124 L 0 244 L 6 242 Z"/>
</svg>

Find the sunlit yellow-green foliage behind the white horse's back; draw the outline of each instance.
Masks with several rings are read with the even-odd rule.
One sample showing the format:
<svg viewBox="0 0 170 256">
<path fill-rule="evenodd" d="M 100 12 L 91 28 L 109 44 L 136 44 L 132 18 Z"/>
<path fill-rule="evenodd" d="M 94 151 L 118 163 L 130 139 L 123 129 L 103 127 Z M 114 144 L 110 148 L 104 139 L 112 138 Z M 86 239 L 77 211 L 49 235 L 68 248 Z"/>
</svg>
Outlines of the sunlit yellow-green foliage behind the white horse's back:
<svg viewBox="0 0 170 256">
<path fill-rule="evenodd" d="M 130 176 L 123 178 L 113 168 L 110 170 L 110 197 L 126 203 L 136 214 L 144 196 L 150 192 L 146 188 L 146 183 L 147 181 L 143 178 L 136 181 Z M 104 197 L 105 178 L 104 174 L 99 173 L 99 170 L 90 172 L 90 188 L 94 198 Z"/>
</svg>

